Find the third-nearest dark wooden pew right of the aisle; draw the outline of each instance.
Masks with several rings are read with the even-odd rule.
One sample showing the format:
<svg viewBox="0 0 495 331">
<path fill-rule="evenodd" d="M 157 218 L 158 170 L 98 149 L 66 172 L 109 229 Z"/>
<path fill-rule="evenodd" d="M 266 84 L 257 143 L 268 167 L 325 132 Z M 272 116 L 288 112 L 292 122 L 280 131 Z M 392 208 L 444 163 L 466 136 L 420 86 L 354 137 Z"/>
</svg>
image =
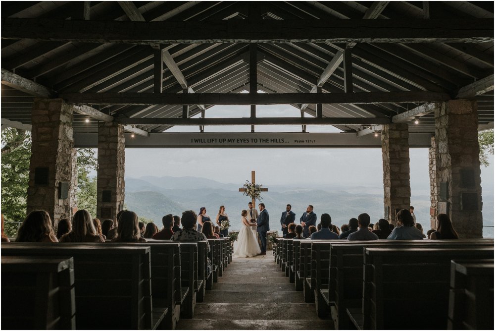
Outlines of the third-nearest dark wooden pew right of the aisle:
<svg viewBox="0 0 495 331">
<path fill-rule="evenodd" d="M 330 312 L 337 329 L 347 329 L 347 309 L 360 312 L 363 293 L 363 248 L 365 247 L 456 247 L 458 245 L 482 245 L 493 247 L 493 241 L 479 240 L 376 240 L 337 241 L 330 247 L 330 268 L 328 294 L 321 293 L 330 306 Z M 320 291 L 321 292 L 321 291 Z M 328 295 L 328 297 L 327 297 Z"/>
</svg>

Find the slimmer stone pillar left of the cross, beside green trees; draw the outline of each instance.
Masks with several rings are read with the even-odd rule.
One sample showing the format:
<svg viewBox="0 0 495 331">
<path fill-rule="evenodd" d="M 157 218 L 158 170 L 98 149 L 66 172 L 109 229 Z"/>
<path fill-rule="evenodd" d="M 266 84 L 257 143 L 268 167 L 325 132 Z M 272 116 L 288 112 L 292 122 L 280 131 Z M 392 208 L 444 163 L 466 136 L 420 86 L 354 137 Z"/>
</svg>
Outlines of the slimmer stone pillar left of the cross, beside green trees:
<svg viewBox="0 0 495 331">
<path fill-rule="evenodd" d="M 100 220 L 114 219 L 124 208 L 124 126 L 100 122 L 98 127 L 98 203 Z"/>
</svg>

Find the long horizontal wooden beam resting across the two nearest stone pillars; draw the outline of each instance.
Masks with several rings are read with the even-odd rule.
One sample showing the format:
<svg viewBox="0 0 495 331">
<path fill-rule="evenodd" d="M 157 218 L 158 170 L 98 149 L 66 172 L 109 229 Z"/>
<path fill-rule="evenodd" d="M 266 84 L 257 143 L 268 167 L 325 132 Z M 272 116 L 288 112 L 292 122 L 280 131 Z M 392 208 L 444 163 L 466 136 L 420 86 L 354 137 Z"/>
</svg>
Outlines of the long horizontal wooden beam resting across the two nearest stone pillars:
<svg viewBox="0 0 495 331">
<path fill-rule="evenodd" d="M 368 93 L 66 93 L 60 98 L 70 103 L 93 105 L 287 105 L 287 104 L 380 104 L 444 102 L 446 93 L 368 92 Z"/>
</svg>

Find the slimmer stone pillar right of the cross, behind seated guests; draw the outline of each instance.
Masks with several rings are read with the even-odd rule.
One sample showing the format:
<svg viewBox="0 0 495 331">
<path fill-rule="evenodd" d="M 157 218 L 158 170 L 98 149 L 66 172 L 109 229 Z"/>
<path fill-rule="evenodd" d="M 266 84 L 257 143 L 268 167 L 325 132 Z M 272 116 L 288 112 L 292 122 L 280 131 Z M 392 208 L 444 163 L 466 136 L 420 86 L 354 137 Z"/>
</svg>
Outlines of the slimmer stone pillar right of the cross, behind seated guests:
<svg viewBox="0 0 495 331">
<path fill-rule="evenodd" d="M 411 204 L 407 124 L 383 126 L 382 159 L 384 218 L 395 224 L 396 212 L 402 208 L 409 209 Z"/>
</svg>

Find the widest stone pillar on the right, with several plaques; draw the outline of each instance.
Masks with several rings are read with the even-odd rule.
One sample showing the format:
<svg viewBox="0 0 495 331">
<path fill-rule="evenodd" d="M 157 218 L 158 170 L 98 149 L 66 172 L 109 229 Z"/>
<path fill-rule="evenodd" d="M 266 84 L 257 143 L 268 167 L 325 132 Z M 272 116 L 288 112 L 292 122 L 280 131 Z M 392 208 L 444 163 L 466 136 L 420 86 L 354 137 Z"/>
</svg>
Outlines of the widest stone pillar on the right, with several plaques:
<svg viewBox="0 0 495 331">
<path fill-rule="evenodd" d="M 435 110 L 437 213 L 446 213 L 461 238 L 483 237 L 478 105 L 451 100 Z"/>
</svg>

